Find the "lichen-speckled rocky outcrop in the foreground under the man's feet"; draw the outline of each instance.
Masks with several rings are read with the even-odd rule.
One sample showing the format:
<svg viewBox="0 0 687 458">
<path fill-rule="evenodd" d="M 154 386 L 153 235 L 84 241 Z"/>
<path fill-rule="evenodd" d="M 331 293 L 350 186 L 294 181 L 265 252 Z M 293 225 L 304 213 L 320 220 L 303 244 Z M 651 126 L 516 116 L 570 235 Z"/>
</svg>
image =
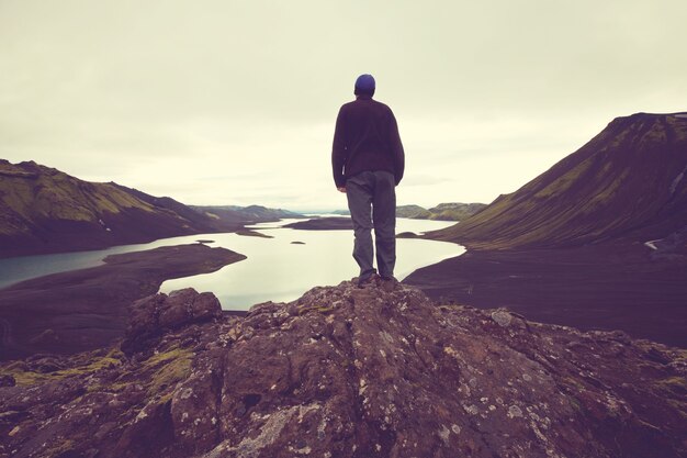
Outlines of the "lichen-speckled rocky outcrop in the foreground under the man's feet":
<svg viewBox="0 0 687 458">
<path fill-rule="evenodd" d="M 687 354 L 622 333 L 351 282 L 245 319 L 190 290 L 133 312 L 126 354 L 2 366 L 0 455 L 687 454 Z"/>
</svg>

